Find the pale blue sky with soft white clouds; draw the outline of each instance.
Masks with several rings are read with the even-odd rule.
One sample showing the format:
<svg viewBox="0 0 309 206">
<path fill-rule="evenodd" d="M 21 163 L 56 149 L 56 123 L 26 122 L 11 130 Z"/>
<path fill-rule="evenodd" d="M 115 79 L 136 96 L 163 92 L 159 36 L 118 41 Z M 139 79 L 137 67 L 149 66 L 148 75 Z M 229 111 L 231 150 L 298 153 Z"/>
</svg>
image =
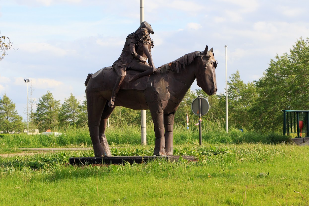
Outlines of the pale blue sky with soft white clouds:
<svg viewBox="0 0 309 206">
<path fill-rule="evenodd" d="M 88 73 L 110 66 L 126 36 L 140 23 L 140 1 L 0 1 L 1 36 L 13 40 L 0 62 L 1 96 L 6 93 L 26 119 L 26 84 L 32 97 L 52 92 L 63 103 L 70 93 L 84 99 Z M 193 51 L 214 48 L 218 92 L 239 70 L 244 82 L 262 77 L 270 59 L 288 53 L 309 35 L 307 0 L 145 0 L 145 20 L 155 33 L 152 56 L 158 67 Z M 30 87 L 30 84 L 29 84 Z M 193 83 L 192 90 L 197 89 Z"/>
</svg>

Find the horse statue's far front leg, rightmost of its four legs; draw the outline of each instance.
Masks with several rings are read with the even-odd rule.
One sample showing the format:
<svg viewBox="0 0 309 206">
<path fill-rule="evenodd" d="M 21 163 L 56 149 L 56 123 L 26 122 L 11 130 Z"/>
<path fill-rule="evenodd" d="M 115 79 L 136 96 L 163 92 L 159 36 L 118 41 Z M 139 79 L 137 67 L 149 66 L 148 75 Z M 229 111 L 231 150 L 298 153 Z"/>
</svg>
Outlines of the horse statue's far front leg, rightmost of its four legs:
<svg viewBox="0 0 309 206">
<path fill-rule="evenodd" d="M 166 155 L 173 155 L 174 117 L 175 113 L 164 114 L 164 138 Z"/>
</svg>

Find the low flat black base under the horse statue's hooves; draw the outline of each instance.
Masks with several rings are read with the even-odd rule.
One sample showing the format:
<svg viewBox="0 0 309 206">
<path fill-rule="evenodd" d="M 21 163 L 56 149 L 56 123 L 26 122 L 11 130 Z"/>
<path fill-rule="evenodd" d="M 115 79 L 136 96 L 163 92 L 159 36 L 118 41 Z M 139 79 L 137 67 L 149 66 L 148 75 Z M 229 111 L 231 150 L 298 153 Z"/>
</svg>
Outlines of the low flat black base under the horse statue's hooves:
<svg viewBox="0 0 309 206">
<path fill-rule="evenodd" d="M 182 158 L 193 161 L 194 156 L 181 156 Z M 80 157 L 70 158 L 71 165 L 89 165 L 89 164 L 125 164 L 125 162 L 142 163 L 155 159 L 164 159 L 171 162 L 178 162 L 180 156 L 120 156 L 120 157 Z"/>
</svg>

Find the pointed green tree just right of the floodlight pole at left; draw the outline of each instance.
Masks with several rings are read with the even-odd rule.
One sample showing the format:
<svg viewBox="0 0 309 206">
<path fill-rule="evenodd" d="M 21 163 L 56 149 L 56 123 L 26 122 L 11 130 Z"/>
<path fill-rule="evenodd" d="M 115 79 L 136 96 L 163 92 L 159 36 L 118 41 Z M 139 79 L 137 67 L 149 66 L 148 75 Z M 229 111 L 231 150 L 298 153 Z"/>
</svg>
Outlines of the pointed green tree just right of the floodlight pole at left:
<svg viewBox="0 0 309 206">
<path fill-rule="evenodd" d="M 49 91 L 39 98 L 35 115 L 40 131 L 57 128 L 59 108 L 60 100 L 55 100 Z"/>
</svg>

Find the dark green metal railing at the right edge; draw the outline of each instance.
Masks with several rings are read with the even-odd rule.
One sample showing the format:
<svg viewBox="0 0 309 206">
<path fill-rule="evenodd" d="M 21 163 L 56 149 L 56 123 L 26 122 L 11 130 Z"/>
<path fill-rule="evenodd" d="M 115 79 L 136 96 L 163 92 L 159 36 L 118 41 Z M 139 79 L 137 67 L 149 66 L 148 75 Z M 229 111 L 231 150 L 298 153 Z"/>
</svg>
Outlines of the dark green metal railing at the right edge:
<svg viewBox="0 0 309 206">
<path fill-rule="evenodd" d="M 301 138 L 302 133 L 309 137 L 309 111 L 282 110 L 283 111 L 283 135 L 297 133 Z"/>
</svg>

